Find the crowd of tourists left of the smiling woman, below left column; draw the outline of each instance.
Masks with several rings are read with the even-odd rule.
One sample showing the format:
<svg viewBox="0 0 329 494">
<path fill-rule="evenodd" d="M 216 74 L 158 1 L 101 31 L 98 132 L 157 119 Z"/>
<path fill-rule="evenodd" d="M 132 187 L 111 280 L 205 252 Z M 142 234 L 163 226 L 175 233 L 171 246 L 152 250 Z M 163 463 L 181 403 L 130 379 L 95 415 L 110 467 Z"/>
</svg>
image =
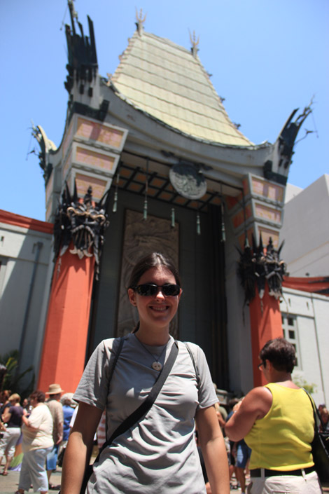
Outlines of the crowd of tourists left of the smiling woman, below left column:
<svg viewBox="0 0 329 494">
<path fill-rule="evenodd" d="M 58 490 L 50 482 L 64 451 L 76 402 L 57 384 L 48 392 L 34 390 L 20 404 L 20 395 L 3 390 L 0 394 L 0 465 L 2 475 L 20 471 L 18 493 Z"/>
</svg>

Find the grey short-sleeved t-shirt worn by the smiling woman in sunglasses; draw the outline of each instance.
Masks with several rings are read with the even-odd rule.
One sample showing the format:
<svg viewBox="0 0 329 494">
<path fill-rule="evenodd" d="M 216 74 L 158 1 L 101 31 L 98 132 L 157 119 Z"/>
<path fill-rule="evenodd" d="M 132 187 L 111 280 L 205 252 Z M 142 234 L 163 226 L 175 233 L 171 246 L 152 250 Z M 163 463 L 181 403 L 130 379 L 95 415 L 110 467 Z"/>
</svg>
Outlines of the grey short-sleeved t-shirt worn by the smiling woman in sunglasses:
<svg viewBox="0 0 329 494">
<path fill-rule="evenodd" d="M 151 365 L 155 357 L 163 365 L 173 344 L 171 337 L 165 346 L 147 347 L 129 334 L 109 390 L 109 369 L 118 340 L 104 340 L 94 350 L 73 399 L 102 410 L 106 407 L 108 438 L 151 391 L 158 377 Z M 158 398 L 139 423 L 104 449 L 94 465 L 88 494 L 206 492 L 195 444 L 195 413 L 214 405 L 218 398 L 204 352 L 193 343 L 188 345 L 195 356 L 198 387 L 190 354 L 179 342 L 179 354 Z"/>
</svg>

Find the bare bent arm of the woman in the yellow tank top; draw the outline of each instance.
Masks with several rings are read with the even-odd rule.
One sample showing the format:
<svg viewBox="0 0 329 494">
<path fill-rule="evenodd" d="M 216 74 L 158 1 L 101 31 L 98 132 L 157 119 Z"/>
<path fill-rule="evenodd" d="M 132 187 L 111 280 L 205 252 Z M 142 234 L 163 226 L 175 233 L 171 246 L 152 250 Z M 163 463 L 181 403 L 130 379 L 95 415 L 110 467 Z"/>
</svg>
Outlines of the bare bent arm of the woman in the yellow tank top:
<svg viewBox="0 0 329 494">
<path fill-rule="evenodd" d="M 272 406 L 272 393 L 267 387 L 255 387 L 237 403 L 235 413 L 225 425 L 225 432 L 231 441 L 240 441 L 251 430 L 255 420 L 265 417 Z"/>
</svg>

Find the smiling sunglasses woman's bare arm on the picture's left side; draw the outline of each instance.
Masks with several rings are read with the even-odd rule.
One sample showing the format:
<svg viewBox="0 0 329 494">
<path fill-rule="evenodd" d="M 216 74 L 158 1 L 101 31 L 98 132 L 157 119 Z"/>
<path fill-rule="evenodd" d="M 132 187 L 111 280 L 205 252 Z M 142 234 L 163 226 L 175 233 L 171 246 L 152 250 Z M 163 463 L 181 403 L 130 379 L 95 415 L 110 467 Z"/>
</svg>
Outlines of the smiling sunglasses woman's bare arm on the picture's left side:
<svg viewBox="0 0 329 494">
<path fill-rule="evenodd" d="M 102 416 L 96 406 L 80 402 L 66 446 L 62 468 L 61 494 L 79 494 L 83 474 L 92 453 L 94 433 Z"/>
</svg>

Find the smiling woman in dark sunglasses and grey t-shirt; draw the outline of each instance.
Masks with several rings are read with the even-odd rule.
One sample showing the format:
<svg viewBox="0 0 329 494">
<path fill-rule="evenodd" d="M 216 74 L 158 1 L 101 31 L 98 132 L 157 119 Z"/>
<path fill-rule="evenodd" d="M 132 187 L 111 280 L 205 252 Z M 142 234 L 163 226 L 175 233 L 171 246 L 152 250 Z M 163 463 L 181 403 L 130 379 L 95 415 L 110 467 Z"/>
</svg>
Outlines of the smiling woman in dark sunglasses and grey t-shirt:
<svg viewBox="0 0 329 494">
<path fill-rule="evenodd" d="M 109 359 L 119 338 L 102 341 L 87 364 L 74 399 L 78 415 L 69 437 L 62 494 L 78 494 L 94 432 L 106 409 L 107 437 L 147 397 L 172 346 L 169 324 L 179 307 L 181 281 L 165 256 L 153 253 L 132 270 L 127 290 L 137 328 L 125 336 L 109 385 Z M 146 415 L 107 446 L 93 467 L 89 494 L 206 493 L 195 442 L 195 420 L 213 494 L 228 494 L 228 460 L 214 404 L 218 402 L 204 352 L 184 343 Z M 108 390 L 109 386 L 109 390 Z"/>
</svg>

